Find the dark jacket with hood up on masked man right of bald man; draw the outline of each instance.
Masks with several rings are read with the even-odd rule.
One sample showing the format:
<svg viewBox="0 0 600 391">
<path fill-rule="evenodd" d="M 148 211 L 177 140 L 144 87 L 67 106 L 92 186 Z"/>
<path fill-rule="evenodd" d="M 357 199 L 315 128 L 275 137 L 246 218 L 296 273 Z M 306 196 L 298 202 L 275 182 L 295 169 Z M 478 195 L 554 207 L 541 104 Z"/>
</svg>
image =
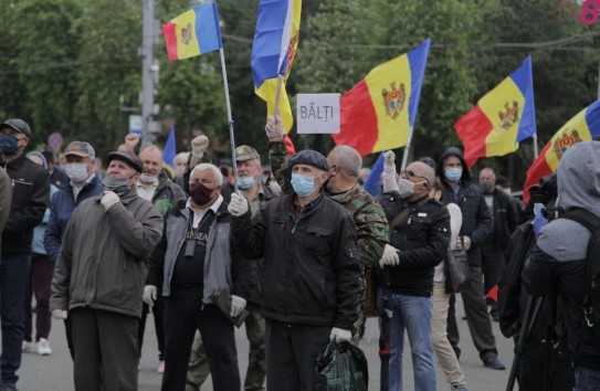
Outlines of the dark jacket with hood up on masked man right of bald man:
<svg viewBox="0 0 600 391">
<path fill-rule="evenodd" d="M 444 175 L 444 160 L 450 156 L 457 157 L 463 163 L 463 175 L 459 180 L 460 190 L 456 194 Z M 471 173 L 459 148 L 450 147 L 442 154 L 438 163 L 438 177 L 443 188 L 442 202 L 444 204 L 454 202 L 461 208 L 463 224 L 460 235 L 471 237 L 471 249 L 466 252 L 469 264 L 481 265 L 480 245 L 492 230 L 492 215 L 482 191 L 471 183 Z"/>
</svg>

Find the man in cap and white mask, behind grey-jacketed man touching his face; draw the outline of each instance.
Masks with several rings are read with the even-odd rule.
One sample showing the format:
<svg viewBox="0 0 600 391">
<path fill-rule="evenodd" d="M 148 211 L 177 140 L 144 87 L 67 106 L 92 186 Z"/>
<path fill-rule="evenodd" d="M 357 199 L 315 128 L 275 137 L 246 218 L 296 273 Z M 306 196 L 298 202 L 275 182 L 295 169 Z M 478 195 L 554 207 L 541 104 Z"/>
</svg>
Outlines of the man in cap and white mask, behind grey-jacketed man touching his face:
<svg viewBox="0 0 600 391">
<path fill-rule="evenodd" d="M 96 151 L 90 142 L 71 142 L 64 150 L 64 157 L 66 160 L 64 169 L 71 181 L 64 183 L 64 186 L 52 197 L 50 220 L 44 232 L 44 249 L 53 264 L 56 264 L 56 260 L 59 258 L 61 244 L 63 243 L 63 234 L 66 230 L 66 223 L 71 218 L 71 213 L 73 213 L 75 208 L 84 200 L 104 191 L 102 179 L 94 171 Z M 64 325 L 66 345 L 71 358 L 74 358 L 75 350 L 73 349 L 71 319 L 66 318 Z"/>
</svg>

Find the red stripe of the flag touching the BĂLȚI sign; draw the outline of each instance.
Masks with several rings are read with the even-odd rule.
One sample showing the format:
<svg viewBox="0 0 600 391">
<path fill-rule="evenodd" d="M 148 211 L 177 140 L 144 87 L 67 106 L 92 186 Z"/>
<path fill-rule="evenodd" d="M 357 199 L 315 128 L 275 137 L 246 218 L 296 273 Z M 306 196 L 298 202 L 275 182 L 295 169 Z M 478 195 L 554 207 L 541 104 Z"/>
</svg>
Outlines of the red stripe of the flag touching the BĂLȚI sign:
<svg viewBox="0 0 600 391">
<path fill-rule="evenodd" d="M 377 113 L 365 80 L 341 95 L 340 133 L 333 135 L 336 145 L 355 148 L 360 156 L 372 154 L 379 138 Z"/>
</svg>

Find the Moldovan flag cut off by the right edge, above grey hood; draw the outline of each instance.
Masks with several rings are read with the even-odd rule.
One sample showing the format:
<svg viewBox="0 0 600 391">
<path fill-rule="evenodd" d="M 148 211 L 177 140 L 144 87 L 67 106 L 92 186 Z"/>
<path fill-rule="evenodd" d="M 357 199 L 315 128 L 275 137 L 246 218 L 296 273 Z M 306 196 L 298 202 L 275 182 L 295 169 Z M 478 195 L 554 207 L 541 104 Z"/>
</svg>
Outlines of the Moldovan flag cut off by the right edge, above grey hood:
<svg viewBox="0 0 600 391">
<path fill-rule="evenodd" d="M 536 161 L 527 170 L 523 200 L 525 202 L 529 200 L 527 190 L 531 186 L 538 184 L 541 178 L 556 171 L 567 149 L 577 142 L 590 141 L 598 136 L 600 136 L 600 99 L 569 119 L 546 144 Z"/>
</svg>

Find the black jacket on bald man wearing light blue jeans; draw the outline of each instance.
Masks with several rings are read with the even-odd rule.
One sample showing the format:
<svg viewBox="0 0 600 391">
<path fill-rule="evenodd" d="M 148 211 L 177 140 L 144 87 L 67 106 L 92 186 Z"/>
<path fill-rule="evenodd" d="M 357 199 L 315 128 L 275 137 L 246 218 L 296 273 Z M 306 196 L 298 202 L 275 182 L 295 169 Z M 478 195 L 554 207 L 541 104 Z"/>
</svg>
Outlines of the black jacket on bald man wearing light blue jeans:
<svg viewBox="0 0 600 391">
<path fill-rule="evenodd" d="M 389 267 L 390 288 L 398 295 L 431 296 L 434 267 L 444 258 L 450 244 L 450 214 L 435 200 L 402 200 L 398 192 L 388 192 L 378 201 L 390 222 L 390 243 L 399 251 L 400 264 Z M 421 202 L 423 201 L 423 202 Z M 391 221 L 407 208 L 408 219 L 391 226 Z M 378 278 L 382 285 L 382 279 Z"/>
</svg>

